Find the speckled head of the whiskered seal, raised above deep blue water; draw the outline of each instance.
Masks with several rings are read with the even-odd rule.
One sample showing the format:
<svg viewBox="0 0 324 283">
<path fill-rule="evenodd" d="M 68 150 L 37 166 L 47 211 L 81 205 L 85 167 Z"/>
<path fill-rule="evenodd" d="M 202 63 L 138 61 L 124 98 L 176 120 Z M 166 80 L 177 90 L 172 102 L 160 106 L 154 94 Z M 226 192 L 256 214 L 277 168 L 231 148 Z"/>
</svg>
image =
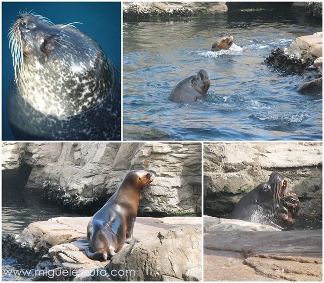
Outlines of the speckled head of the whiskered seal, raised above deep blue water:
<svg viewBox="0 0 324 283">
<path fill-rule="evenodd" d="M 99 104 L 112 84 L 100 46 L 71 24 L 21 14 L 9 30 L 20 95 L 45 115 L 65 118 Z"/>
</svg>

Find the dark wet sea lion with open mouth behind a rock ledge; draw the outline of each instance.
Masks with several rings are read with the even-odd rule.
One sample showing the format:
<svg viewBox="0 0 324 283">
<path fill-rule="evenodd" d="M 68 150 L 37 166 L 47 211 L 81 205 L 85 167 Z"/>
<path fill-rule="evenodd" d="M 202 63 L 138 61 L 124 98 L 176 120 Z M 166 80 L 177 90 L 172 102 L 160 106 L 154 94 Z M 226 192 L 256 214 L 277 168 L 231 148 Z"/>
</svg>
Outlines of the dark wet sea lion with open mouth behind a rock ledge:
<svg viewBox="0 0 324 283">
<path fill-rule="evenodd" d="M 300 202 L 295 195 L 285 196 L 286 188 L 285 177 L 278 172 L 272 172 L 269 181 L 259 184 L 239 200 L 230 218 L 278 228 L 292 227 Z"/>
</svg>

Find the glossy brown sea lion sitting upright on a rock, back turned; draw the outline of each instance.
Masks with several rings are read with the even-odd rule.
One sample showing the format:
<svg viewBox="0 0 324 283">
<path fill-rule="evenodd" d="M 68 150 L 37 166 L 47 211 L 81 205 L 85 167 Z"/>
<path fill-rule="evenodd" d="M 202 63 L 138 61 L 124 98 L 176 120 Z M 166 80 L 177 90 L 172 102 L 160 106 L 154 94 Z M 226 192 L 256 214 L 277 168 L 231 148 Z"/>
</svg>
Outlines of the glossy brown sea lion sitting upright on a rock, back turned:
<svg viewBox="0 0 324 283">
<path fill-rule="evenodd" d="M 91 218 L 87 228 L 89 248 L 86 255 L 106 261 L 133 239 L 133 228 L 143 188 L 152 182 L 154 174 L 144 170 L 127 173 L 118 190 Z"/>
</svg>

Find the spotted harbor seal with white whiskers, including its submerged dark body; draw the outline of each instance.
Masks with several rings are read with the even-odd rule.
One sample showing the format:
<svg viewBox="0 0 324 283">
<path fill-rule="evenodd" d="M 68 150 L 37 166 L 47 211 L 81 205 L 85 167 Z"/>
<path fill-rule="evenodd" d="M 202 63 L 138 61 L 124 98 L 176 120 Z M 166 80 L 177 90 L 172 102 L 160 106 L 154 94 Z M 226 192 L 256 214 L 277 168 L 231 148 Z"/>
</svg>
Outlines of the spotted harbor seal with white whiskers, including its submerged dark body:
<svg viewBox="0 0 324 283">
<path fill-rule="evenodd" d="M 24 13 L 9 29 L 15 77 L 8 112 L 16 139 L 120 139 L 120 71 L 73 24 Z"/>
</svg>

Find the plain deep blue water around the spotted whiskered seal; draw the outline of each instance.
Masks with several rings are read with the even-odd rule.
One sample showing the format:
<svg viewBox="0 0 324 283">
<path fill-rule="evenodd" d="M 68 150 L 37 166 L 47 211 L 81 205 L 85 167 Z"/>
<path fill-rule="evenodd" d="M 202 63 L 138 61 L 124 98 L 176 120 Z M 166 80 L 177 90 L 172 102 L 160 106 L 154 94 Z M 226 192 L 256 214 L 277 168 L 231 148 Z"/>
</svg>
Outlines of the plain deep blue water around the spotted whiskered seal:
<svg viewBox="0 0 324 283">
<path fill-rule="evenodd" d="M 19 11 L 36 12 L 55 24 L 81 22 L 75 26 L 95 39 L 105 54 L 120 69 L 121 66 L 121 5 L 120 2 L 4 2 L 2 3 L 2 139 L 14 140 L 8 122 L 8 89 L 14 75 L 9 49 L 9 25 L 17 19 Z"/>
</svg>

